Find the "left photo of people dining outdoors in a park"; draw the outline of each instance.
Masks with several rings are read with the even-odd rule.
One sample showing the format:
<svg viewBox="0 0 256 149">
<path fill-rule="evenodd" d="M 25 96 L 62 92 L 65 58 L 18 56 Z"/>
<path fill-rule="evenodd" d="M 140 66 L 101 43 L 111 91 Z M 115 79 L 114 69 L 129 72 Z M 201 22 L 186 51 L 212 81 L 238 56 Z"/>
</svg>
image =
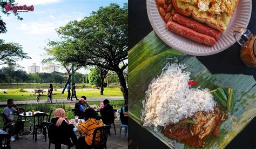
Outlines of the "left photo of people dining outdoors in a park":
<svg viewBox="0 0 256 149">
<path fill-rule="evenodd" d="M 127 0 L 0 4 L 2 146 L 128 148 Z"/>
</svg>

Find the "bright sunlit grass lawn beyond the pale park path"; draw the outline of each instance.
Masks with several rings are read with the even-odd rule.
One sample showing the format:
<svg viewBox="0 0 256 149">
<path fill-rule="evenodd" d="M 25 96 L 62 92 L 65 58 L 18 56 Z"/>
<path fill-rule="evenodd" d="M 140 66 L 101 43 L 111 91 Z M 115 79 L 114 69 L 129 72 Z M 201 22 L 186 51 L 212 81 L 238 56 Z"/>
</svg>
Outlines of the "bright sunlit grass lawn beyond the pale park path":
<svg viewBox="0 0 256 149">
<path fill-rule="evenodd" d="M 36 97 L 33 96 L 34 93 L 30 91 L 26 91 L 24 89 L 17 89 L 17 90 L 8 90 L 4 93 L 3 91 L 0 91 L 0 101 L 6 101 L 7 99 L 11 98 L 15 101 L 23 101 L 23 100 L 36 100 Z M 61 99 L 66 98 L 68 96 L 68 92 L 65 91 L 64 94 L 61 93 L 61 91 L 53 91 L 53 97 L 52 99 Z M 123 96 L 120 89 L 108 89 L 104 88 L 104 95 L 100 95 L 100 90 L 85 90 L 85 91 L 77 91 L 77 97 L 86 96 L 86 97 L 121 97 Z M 47 99 L 47 93 L 44 93 L 44 96 L 41 96 L 40 99 Z"/>
</svg>

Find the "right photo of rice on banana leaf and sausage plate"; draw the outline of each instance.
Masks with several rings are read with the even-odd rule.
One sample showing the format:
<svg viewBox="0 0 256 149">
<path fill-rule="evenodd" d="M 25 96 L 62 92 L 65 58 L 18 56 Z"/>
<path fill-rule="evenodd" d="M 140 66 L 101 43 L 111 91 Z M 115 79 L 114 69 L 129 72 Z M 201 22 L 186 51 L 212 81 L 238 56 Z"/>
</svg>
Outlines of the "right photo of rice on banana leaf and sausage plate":
<svg viewBox="0 0 256 149">
<path fill-rule="evenodd" d="M 256 2 L 128 9 L 129 148 L 256 148 Z"/>
</svg>

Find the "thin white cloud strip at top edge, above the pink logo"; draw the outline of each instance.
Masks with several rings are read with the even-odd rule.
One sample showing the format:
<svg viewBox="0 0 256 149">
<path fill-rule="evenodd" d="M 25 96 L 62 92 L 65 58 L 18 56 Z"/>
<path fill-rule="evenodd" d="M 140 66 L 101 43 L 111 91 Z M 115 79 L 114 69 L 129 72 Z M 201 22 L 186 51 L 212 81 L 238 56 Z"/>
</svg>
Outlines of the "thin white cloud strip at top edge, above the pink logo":
<svg viewBox="0 0 256 149">
<path fill-rule="evenodd" d="M 51 3 L 59 3 L 60 0 L 16 0 L 19 5 L 45 5 Z"/>
</svg>

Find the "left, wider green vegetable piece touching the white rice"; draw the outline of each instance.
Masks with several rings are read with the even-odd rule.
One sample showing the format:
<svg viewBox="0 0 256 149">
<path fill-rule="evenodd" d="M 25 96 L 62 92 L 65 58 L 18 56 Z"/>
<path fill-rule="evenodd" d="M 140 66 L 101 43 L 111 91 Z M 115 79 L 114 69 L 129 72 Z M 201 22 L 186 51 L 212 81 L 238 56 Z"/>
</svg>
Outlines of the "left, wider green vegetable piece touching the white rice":
<svg viewBox="0 0 256 149">
<path fill-rule="evenodd" d="M 211 93 L 215 100 L 218 101 L 218 103 L 220 103 L 223 106 L 227 106 L 227 96 L 221 87 L 212 90 Z"/>
</svg>

